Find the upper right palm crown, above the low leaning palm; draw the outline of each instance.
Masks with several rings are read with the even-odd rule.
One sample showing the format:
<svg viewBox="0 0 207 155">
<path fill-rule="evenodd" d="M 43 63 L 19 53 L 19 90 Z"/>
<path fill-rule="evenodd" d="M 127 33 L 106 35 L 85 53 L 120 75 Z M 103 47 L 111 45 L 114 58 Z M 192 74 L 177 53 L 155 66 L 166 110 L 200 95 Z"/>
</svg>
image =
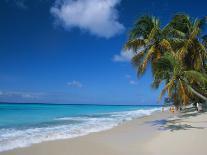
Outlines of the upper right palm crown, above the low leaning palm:
<svg viewBox="0 0 207 155">
<path fill-rule="evenodd" d="M 176 34 L 176 37 L 172 38 L 177 40 L 173 47 L 179 53 L 178 58 L 188 69 L 202 72 L 205 70 L 207 57 L 207 50 L 204 44 L 206 43 L 206 37 L 201 36 L 205 23 L 205 18 L 192 20 L 188 15 L 177 14 L 167 26 L 170 29 L 170 31 L 167 31 L 169 36 L 175 36 Z"/>
</svg>

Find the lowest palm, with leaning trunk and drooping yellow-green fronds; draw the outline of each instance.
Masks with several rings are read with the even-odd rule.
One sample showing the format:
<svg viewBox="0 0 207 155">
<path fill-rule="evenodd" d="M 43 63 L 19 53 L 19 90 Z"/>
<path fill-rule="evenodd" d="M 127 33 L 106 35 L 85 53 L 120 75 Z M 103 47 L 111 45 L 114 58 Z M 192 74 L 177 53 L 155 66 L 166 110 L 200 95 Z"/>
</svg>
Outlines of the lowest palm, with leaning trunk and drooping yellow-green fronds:
<svg viewBox="0 0 207 155">
<path fill-rule="evenodd" d="M 193 97 L 207 101 L 207 97 L 197 91 L 207 84 L 207 75 L 195 70 L 187 70 L 178 57 L 179 53 L 169 52 L 156 63 L 154 83 L 166 82 L 160 99 L 167 92 L 177 105 L 188 104 Z M 195 84 L 196 88 L 193 87 Z"/>
</svg>

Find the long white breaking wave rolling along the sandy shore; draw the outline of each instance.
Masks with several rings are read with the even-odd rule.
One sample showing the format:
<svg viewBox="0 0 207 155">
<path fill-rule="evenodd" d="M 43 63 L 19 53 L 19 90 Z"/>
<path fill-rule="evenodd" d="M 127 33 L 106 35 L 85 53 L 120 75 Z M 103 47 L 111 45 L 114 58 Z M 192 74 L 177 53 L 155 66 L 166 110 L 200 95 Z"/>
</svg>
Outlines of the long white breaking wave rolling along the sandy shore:
<svg viewBox="0 0 207 155">
<path fill-rule="evenodd" d="M 54 120 L 54 122 L 60 122 L 58 125 L 54 123 L 55 125 L 47 127 L 33 126 L 24 130 L 3 128 L 0 129 L 0 152 L 30 146 L 43 141 L 74 138 L 92 132 L 111 129 L 124 121 L 150 115 L 158 110 L 160 108 L 83 115 L 79 117 L 61 117 Z M 61 122 L 64 123 L 61 125 Z"/>
</svg>

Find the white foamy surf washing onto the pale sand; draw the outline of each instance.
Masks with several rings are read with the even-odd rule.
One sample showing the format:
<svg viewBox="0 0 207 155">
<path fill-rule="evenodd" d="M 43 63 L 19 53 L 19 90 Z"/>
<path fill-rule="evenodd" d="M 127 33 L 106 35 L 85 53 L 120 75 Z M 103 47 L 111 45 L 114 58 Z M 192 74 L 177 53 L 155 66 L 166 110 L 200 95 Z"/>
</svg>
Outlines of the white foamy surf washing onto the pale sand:
<svg viewBox="0 0 207 155">
<path fill-rule="evenodd" d="M 67 125 L 67 128 L 60 126 L 58 130 L 52 130 L 52 131 L 51 129 L 53 128 L 48 128 L 48 129 L 46 128 L 45 134 L 42 134 L 41 130 L 39 130 L 38 128 L 37 128 L 37 132 L 25 130 L 25 131 L 20 132 L 20 134 L 18 134 L 18 131 L 17 131 L 17 136 L 13 136 L 11 140 L 9 138 L 8 140 L 4 138 L 4 133 L 2 133 L 3 139 L 0 140 L 0 142 L 2 142 L 1 143 L 2 145 L 0 146 L 0 152 L 11 151 L 11 150 L 18 149 L 18 148 L 26 148 L 34 144 L 41 144 L 43 142 L 74 139 L 74 138 L 86 136 L 92 133 L 98 133 L 98 132 L 110 130 L 125 122 L 131 121 L 134 119 L 139 119 L 144 116 L 152 115 L 154 112 L 159 112 L 159 111 L 160 111 L 160 108 L 153 107 L 151 109 L 136 109 L 136 110 L 111 112 L 112 116 L 109 115 L 108 117 L 107 116 L 103 117 L 103 119 L 96 118 L 96 116 L 94 117 L 95 119 L 93 119 L 93 117 L 88 117 L 88 116 L 86 116 L 86 118 L 77 117 L 77 121 L 82 120 L 86 123 L 85 124 L 82 123 L 83 125 L 80 124 L 80 127 L 79 126 L 73 127 L 73 126 L 70 126 L 70 124 Z M 57 121 L 66 120 L 67 121 L 67 120 L 71 120 L 71 118 L 74 119 L 76 117 L 70 117 L 70 116 L 57 117 L 55 120 Z M 87 119 L 87 121 L 85 119 Z M 41 136 L 38 136 L 37 134 L 38 132 L 42 136 L 42 138 Z M 11 131 L 9 132 L 9 134 L 15 135 L 16 132 Z M 7 137 L 7 135 L 5 135 L 5 137 Z"/>
</svg>

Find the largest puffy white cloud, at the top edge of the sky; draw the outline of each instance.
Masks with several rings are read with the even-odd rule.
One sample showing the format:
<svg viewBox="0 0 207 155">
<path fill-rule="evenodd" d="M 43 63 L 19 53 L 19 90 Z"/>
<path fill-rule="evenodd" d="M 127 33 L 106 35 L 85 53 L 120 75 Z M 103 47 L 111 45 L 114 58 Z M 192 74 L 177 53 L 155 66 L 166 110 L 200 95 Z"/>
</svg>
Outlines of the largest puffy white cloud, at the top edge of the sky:
<svg viewBox="0 0 207 155">
<path fill-rule="evenodd" d="M 56 23 L 70 30 L 79 28 L 99 37 L 110 38 L 123 32 L 117 5 L 121 0 L 56 0 L 50 12 Z"/>
</svg>

